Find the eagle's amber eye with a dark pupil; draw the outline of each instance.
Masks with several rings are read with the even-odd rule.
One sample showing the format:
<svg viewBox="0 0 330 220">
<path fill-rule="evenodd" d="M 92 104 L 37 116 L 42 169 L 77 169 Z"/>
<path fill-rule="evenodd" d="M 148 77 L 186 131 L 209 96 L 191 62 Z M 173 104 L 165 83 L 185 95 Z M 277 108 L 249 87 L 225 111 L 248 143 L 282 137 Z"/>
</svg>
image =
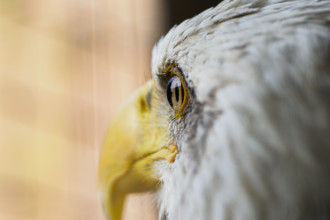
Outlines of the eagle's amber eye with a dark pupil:
<svg viewBox="0 0 330 220">
<path fill-rule="evenodd" d="M 179 115 L 186 103 L 186 92 L 181 79 L 174 75 L 167 83 L 166 88 L 167 100 L 176 116 Z"/>
</svg>

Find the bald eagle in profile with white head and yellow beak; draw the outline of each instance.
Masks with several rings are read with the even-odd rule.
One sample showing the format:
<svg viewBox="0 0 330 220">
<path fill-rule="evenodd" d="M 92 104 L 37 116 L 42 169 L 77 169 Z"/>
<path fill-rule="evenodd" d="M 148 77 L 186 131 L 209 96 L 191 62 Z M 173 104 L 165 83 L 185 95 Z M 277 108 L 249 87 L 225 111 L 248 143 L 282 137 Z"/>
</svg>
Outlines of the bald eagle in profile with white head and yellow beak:
<svg viewBox="0 0 330 220">
<path fill-rule="evenodd" d="M 330 219 L 330 1 L 225 0 L 154 47 L 112 123 L 100 196 L 169 220 Z"/>
</svg>

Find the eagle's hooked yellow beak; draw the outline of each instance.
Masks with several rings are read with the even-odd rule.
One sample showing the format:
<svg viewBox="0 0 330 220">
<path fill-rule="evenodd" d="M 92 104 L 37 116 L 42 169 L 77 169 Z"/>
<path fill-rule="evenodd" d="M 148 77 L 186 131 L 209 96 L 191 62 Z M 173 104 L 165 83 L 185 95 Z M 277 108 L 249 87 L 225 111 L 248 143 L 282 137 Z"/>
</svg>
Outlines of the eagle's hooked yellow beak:
<svg viewBox="0 0 330 220">
<path fill-rule="evenodd" d="M 168 139 L 166 131 L 148 131 L 145 117 L 151 113 L 147 96 L 152 88 L 153 83 L 149 82 L 116 117 L 101 151 L 100 196 L 111 220 L 121 219 L 127 194 L 157 189 L 159 177 L 153 162 L 173 162 L 178 152 L 175 145 L 164 145 L 164 139 Z"/>
</svg>

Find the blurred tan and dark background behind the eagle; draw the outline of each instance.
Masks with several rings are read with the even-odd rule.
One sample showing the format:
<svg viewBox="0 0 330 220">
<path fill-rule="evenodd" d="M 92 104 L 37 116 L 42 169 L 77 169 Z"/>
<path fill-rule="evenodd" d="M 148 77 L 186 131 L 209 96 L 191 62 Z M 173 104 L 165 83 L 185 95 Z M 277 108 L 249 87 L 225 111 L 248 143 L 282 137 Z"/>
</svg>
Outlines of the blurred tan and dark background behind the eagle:
<svg viewBox="0 0 330 220">
<path fill-rule="evenodd" d="M 219 1 L 0 0 L 0 220 L 104 220 L 103 137 L 174 24 Z M 125 219 L 157 219 L 151 196 Z"/>
</svg>

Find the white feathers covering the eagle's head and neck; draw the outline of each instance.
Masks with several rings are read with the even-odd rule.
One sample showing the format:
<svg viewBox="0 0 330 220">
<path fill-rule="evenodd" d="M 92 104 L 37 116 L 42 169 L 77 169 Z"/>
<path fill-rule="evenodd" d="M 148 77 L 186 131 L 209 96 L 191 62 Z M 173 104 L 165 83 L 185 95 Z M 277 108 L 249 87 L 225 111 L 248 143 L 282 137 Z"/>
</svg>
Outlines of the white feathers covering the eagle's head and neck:
<svg viewBox="0 0 330 220">
<path fill-rule="evenodd" d="M 159 42 L 155 79 L 176 62 L 203 106 L 157 164 L 161 217 L 330 219 L 329 27 L 330 1 L 225 0 Z"/>
</svg>

